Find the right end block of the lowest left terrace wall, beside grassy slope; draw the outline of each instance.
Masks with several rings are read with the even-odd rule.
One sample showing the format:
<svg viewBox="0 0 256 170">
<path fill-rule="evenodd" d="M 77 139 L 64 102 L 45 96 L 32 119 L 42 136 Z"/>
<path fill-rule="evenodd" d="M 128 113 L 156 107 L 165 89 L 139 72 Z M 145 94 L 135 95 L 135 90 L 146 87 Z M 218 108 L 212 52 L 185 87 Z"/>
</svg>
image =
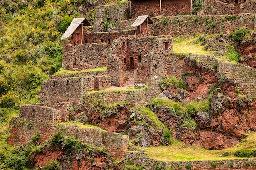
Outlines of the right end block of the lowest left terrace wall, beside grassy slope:
<svg viewBox="0 0 256 170">
<path fill-rule="evenodd" d="M 102 132 L 102 144 L 114 159 L 124 159 L 124 152 L 128 151 L 129 136 L 114 132 Z"/>
</svg>

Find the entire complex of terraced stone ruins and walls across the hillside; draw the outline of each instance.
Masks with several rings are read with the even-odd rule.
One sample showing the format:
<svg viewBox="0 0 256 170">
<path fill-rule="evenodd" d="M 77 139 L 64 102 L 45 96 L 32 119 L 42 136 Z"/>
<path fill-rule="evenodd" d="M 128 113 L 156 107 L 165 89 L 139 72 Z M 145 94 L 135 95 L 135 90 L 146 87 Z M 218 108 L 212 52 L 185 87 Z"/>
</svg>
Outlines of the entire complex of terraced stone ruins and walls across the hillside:
<svg viewBox="0 0 256 170">
<path fill-rule="evenodd" d="M 216 14 L 214 20 L 220 20 L 221 22 L 218 22 L 220 25 L 211 31 L 193 27 L 190 25 L 192 24 L 191 22 L 187 22 L 186 26 L 181 24 L 177 26 L 170 23 L 178 18 L 180 18 L 179 20 L 189 21 L 195 17 L 200 17 L 200 15 L 191 16 L 192 19 L 189 16 L 173 16 L 168 18 L 168 21 L 166 20 L 167 23 L 163 23 L 164 20 L 159 17 L 161 20 L 153 23 L 149 15 L 155 16 L 160 13 L 155 9 L 157 8 L 154 4 L 156 3 L 155 1 L 152 1 L 152 4 L 151 1 L 150 3 L 130 1 L 131 18 L 137 17 L 138 13 L 140 15 L 149 14 L 144 17 L 143 22 L 133 25 L 135 27 L 138 26 L 137 29 L 131 26 L 131 22 L 134 22 L 134 19 L 120 19 L 125 18 L 124 11 L 129 9 L 125 5 L 108 7 L 109 11 L 113 11 L 116 7 L 119 8 L 119 11 L 123 11 L 123 14 L 119 17 L 113 17 L 119 26 L 116 26 L 111 32 L 97 31 L 97 29 L 102 30 L 104 27 L 103 22 L 99 23 L 97 21 L 105 15 L 102 9 L 106 8 L 106 6 L 97 7 L 97 12 L 101 11 L 101 13 L 95 18 L 94 32 L 90 32 L 84 27 L 84 25 L 90 26 L 90 23 L 85 18 L 76 20 L 77 22 L 73 23 L 74 25 L 72 24 L 73 28 L 67 30 L 70 32 L 63 37 L 64 39 L 72 35 L 69 42 L 64 42 L 63 44 L 62 69 L 80 72 L 53 75 L 52 79 L 42 83 L 39 104 L 22 105 L 20 106 L 19 116 L 11 118 L 9 144 L 13 146 L 25 144 L 32 139 L 36 132 L 40 134 L 41 141 L 44 141 L 49 139 L 54 132 L 64 129 L 64 134 L 77 137 L 92 146 L 104 145 L 108 150 L 111 150 L 112 157 L 124 159 L 124 151 L 128 150 L 128 136 L 113 132 L 103 132 L 94 128 L 80 129 L 77 125 L 64 124 L 70 120 L 70 109 L 76 104 L 82 102 L 88 104 L 96 100 L 104 103 L 130 102 L 130 104 L 145 106 L 150 99 L 157 97 L 160 91 L 158 82 L 161 77 L 165 75 L 180 77 L 186 67 L 184 61 L 179 60 L 179 56 L 173 54 L 171 35 L 182 34 L 184 33 L 182 30 L 186 31 L 186 29 L 188 33 L 232 31 L 240 28 L 241 24 L 245 24 L 251 29 L 256 28 L 256 22 L 250 19 L 255 17 L 255 13 L 237 15 L 237 18 L 240 19 L 234 21 L 222 20 L 223 16 L 219 16 L 244 13 L 245 9 L 247 9 L 246 5 L 255 6 L 255 2 L 252 2 L 252 0 L 236 1 L 214 2 L 215 6 L 212 5 L 211 13 Z M 168 8 L 169 3 L 173 2 L 163 1 L 162 15 L 175 15 L 171 13 L 172 9 L 178 9 L 181 4 L 184 8 L 176 10 L 177 13 L 189 14 L 190 1 L 180 1 L 180 5 L 176 4 L 177 7 L 174 5 L 171 8 Z M 230 7 L 229 11 L 220 9 L 225 7 L 223 3 Z M 235 8 L 237 3 L 240 5 L 239 10 Z M 145 8 L 145 5 L 149 5 L 150 8 Z M 134 8 L 138 10 L 132 10 Z M 146 10 L 143 11 L 144 9 Z M 252 12 L 256 12 L 255 9 Z M 201 13 L 206 13 L 206 10 L 207 5 L 202 8 Z M 220 13 L 220 11 L 223 12 Z M 153 14 L 151 15 L 151 13 Z M 213 16 L 215 17 L 215 15 Z M 160 22 L 165 26 L 164 29 L 157 27 Z M 151 29 L 148 24 L 152 24 Z M 231 24 L 232 26 L 230 26 Z M 152 34 L 157 36 L 151 36 Z M 243 80 L 246 79 L 248 81 L 241 81 L 242 83 L 239 84 L 238 82 L 238 84 L 244 90 L 242 91 L 243 94 L 247 95 L 247 97 L 255 97 L 256 87 L 253 86 L 256 83 L 255 70 L 241 66 L 241 64 L 235 64 L 234 66 L 233 64 L 212 61 L 211 56 L 191 55 L 190 57 L 200 58 L 205 62 L 209 62 L 209 64 L 217 63 L 219 76 L 229 73 L 236 74 L 243 68 L 245 74 L 237 74 L 236 77 L 237 79 L 243 78 Z M 225 69 L 222 69 L 224 67 Z M 86 71 L 94 68 L 106 69 L 103 69 L 103 71 Z M 150 86 L 134 91 L 101 91 L 108 86 L 124 86 L 128 78 L 131 77 L 134 79 L 133 84 L 142 83 L 150 84 Z M 91 91 L 94 92 L 91 93 Z M 115 142 L 111 140 L 113 137 L 116 139 Z M 121 147 L 117 147 L 120 144 Z"/>
</svg>

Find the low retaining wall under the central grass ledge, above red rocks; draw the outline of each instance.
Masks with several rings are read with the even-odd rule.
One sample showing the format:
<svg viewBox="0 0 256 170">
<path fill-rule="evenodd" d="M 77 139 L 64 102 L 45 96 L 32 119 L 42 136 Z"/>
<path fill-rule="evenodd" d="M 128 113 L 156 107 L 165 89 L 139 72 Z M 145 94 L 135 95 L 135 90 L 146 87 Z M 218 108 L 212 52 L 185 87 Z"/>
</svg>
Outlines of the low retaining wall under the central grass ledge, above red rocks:
<svg viewBox="0 0 256 170">
<path fill-rule="evenodd" d="M 130 104 L 146 106 L 147 90 L 120 90 L 120 91 L 99 91 L 94 93 L 84 93 L 83 98 L 85 103 L 92 101 L 101 101 L 101 103 L 114 103 L 114 102 L 130 102 Z"/>
</svg>

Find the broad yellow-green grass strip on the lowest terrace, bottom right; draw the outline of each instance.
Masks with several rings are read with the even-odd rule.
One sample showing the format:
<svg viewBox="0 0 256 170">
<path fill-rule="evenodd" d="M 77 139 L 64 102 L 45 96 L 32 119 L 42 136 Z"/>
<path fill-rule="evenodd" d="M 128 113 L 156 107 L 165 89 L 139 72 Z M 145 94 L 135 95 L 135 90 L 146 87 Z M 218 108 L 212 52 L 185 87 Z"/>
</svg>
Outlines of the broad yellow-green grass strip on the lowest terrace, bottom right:
<svg viewBox="0 0 256 170">
<path fill-rule="evenodd" d="M 240 159 L 234 155 L 236 150 L 253 150 L 256 145 L 256 132 L 248 133 L 248 137 L 242 139 L 236 146 L 222 150 L 207 150 L 198 146 L 186 146 L 180 141 L 175 141 L 171 146 L 149 147 L 144 149 L 146 153 L 157 161 L 200 161 L 200 160 L 225 160 Z M 220 155 L 229 152 L 226 157 Z"/>
</svg>

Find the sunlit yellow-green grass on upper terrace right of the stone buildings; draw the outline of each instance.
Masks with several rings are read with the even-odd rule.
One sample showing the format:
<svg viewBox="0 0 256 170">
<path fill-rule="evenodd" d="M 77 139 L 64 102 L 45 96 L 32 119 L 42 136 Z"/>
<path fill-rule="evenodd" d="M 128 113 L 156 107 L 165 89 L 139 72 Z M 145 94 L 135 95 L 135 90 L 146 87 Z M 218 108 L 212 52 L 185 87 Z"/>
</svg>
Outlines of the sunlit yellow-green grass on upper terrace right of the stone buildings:
<svg viewBox="0 0 256 170">
<path fill-rule="evenodd" d="M 183 40 L 187 35 L 181 35 L 173 38 L 173 53 L 175 54 L 204 54 L 212 55 L 214 51 L 206 51 L 204 46 L 200 46 L 200 43 L 192 44 L 193 41 L 198 40 L 200 35 L 194 38 Z M 213 35 L 211 35 L 213 36 Z"/>
</svg>

